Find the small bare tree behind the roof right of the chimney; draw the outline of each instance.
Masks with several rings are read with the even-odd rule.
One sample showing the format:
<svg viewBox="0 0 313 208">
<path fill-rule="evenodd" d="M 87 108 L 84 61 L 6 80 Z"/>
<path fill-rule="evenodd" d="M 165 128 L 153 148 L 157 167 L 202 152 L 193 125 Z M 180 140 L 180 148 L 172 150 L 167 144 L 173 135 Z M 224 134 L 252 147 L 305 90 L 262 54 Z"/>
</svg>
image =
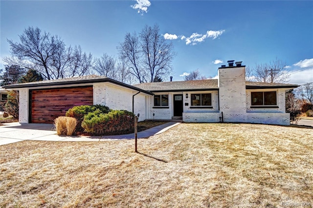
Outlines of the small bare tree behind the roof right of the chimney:
<svg viewBox="0 0 313 208">
<path fill-rule="evenodd" d="M 255 67 L 252 67 L 252 71 L 257 82 L 286 83 L 290 78 L 287 64 L 277 58 L 269 63 L 255 64 Z"/>
</svg>

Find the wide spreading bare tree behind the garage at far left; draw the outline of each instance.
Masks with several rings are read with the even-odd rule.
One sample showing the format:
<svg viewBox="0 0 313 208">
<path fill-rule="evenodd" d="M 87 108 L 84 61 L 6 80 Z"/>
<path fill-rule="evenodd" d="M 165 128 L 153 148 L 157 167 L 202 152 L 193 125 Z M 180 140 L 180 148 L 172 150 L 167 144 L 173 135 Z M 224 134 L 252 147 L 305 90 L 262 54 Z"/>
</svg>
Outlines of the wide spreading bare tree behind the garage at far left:
<svg viewBox="0 0 313 208">
<path fill-rule="evenodd" d="M 9 64 L 20 65 L 27 69 L 35 69 L 46 80 L 81 76 L 88 73 L 91 67 L 91 54 L 82 54 L 81 48 L 66 48 L 58 36 L 43 32 L 38 27 L 26 28 L 20 42 L 7 40 L 10 44 L 11 57 L 4 57 Z M 75 59 L 78 59 L 75 65 Z M 73 69 L 73 64 L 76 67 Z"/>
</svg>

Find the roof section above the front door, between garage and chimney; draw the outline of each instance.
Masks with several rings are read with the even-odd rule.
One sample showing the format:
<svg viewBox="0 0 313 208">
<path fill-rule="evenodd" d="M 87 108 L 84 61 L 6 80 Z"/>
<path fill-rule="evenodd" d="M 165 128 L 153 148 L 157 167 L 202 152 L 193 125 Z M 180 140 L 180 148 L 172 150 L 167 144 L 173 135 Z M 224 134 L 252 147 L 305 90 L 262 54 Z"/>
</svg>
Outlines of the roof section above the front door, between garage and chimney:
<svg viewBox="0 0 313 208">
<path fill-rule="evenodd" d="M 192 80 L 192 81 L 175 81 L 161 83 L 141 83 L 135 84 L 138 88 L 150 92 L 169 92 L 169 91 L 202 91 L 218 90 L 218 80 Z"/>
</svg>

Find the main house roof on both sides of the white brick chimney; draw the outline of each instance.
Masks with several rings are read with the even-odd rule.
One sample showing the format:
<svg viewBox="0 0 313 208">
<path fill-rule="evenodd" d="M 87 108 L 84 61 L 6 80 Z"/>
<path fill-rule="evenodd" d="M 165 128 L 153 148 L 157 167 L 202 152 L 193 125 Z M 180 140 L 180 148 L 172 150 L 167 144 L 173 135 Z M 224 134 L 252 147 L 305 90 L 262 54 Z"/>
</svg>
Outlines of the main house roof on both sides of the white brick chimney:
<svg viewBox="0 0 313 208">
<path fill-rule="evenodd" d="M 218 80 L 192 80 L 133 85 L 150 92 L 218 90 Z M 246 89 L 295 88 L 296 84 L 246 82 Z"/>
</svg>

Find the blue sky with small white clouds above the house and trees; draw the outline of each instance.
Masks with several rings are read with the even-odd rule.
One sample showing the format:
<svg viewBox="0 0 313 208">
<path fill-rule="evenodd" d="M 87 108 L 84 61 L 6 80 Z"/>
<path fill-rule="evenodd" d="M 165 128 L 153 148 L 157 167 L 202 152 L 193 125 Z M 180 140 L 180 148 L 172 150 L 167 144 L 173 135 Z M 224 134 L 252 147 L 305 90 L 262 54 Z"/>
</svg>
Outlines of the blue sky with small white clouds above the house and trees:
<svg viewBox="0 0 313 208">
<path fill-rule="evenodd" d="M 140 32 L 145 24 L 158 24 L 173 42 L 174 81 L 196 69 L 215 77 L 227 60 L 254 66 L 278 58 L 289 65 L 289 83 L 313 82 L 311 0 L 1 0 L 0 66 L 10 55 L 6 39 L 18 42 L 28 26 L 61 36 L 67 45 L 81 45 L 94 57 L 117 57 L 125 34 Z"/>
</svg>

